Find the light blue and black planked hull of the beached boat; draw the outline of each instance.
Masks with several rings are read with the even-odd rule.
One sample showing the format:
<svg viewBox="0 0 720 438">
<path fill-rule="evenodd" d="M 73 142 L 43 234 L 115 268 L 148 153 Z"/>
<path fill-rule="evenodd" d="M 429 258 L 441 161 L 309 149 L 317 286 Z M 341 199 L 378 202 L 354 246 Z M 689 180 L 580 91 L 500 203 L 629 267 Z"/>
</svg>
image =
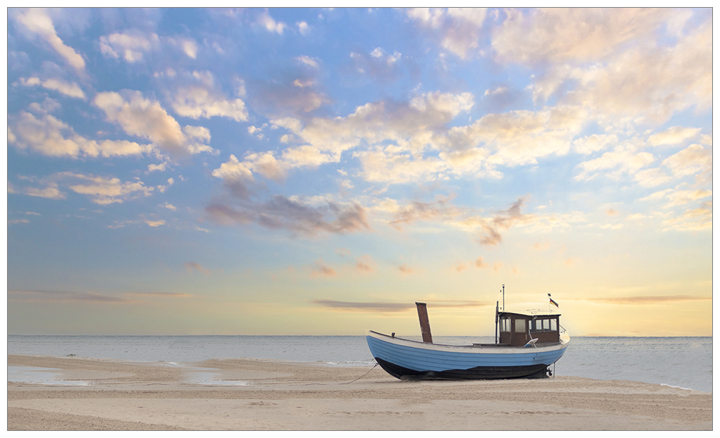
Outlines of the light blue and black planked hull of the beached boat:
<svg viewBox="0 0 720 438">
<path fill-rule="evenodd" d="M 395 378 L 477 380 L 541 378 L 569 339 L 541 347 L 437 345 L 368 332 L 377 363 Z"/>
</svg>

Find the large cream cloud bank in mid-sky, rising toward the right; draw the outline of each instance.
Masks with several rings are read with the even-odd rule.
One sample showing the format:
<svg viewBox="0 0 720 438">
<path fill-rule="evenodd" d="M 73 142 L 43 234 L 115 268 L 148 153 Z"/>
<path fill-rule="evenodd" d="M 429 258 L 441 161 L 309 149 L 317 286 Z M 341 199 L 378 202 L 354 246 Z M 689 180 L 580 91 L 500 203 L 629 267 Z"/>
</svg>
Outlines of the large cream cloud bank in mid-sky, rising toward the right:
<svg viewBox="0 0 720 438">
<path fill-rule="evenodd" d="M 294 118 L 272 120 L 275 127 L 292 133 L 300 146 L 282 154 L 284 165 L 300 167 L 337 162 L 342 152 L 368 145 L 357 152 L 364 176 L 375 181 L 404 182 L 418 175 L 433 175 L 448 167 L 437 158 L 408 161 L 408 151 L 418 152 L 433 142 L 433 135 L 456 115 L 474 104 L 470 93 L 425 93 L 408 102 L 377 101 L 356 108 L 347 117 L 315 117 L 304 126 Z M 391 146 L 386 146 L 390 143 Z M 376 147 L 377 146 L 377 147 Z M 374 148 L 376 147 L 376 148 Z"/>
</svg>

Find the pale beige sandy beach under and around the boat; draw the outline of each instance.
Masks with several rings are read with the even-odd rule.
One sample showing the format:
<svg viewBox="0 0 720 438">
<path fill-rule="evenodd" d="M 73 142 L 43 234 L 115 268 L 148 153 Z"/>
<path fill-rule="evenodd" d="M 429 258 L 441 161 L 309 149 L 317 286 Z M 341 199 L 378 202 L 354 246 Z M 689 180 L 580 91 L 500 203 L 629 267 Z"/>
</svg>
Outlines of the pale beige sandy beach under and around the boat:
<svg viewBox="0 0 720 438">
<path fill-rule="evenodd" d="M 8 355 L 89 385 L 8 382 L 9 430 L 712 430 L 712 394 L 626 380 L 401 381 L 269 360 Z M 197 378 L 197 374 L 204 378 Z M 210 374 L 215 373 L 213 378 Z M 367 375 L 364 375 L 367 373 Z M 350 383 L 364 375 L 364 377 Z M 220 380 L 221 382 L 213 382 Z M 199 380 L 201 383 L 192 383 Z M 217 384 L 222 383 L 222 384 Z"/>
</svg>

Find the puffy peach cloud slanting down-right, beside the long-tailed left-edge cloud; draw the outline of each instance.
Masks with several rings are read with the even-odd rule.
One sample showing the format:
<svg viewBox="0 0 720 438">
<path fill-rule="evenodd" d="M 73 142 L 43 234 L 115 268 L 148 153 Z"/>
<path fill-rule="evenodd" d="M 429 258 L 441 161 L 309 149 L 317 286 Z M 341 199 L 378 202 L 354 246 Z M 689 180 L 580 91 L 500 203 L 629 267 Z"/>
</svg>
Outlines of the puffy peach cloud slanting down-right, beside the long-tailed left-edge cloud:
<svg viewBox="0 0 720 438">
<path fill-rule="evenodd" d="M 157 101 L 145 99 L 140 91 L 98 93 L 93 104 L 105 112 L 109 122 L 119 124 L 127 134 L 154 142 L 165 152 L 177 155 L 214 152 L 212 147 L 197 142 L 207 140 L 207 130 L 198 138 L 194 129 L 197 127 L 181 129 Z"/>
</svg>

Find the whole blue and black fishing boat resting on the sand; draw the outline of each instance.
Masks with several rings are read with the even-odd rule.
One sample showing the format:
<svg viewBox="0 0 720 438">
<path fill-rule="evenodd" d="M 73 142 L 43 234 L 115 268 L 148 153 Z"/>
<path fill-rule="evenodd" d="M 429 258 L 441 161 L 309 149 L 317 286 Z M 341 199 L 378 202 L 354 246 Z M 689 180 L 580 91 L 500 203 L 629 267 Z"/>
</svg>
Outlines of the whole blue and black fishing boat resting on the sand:
<svg viewBox="0 0 720 438">
<path fill-rule="evenodd" d="M 423 341 L 395 333 L 367 332 L 367 344 L 377 363 L 395 378 L 508 379 L 547 378 L 550 365 L 562 357 L 570 336 L 554 311 L 505 311 L 495 304 L 495 343 L 442 345 L 433 343 L 426 303 L 416 302 Z M 549 295 L 549 294 L 548 294 Z M 555 304 L 549 298 L 551 304 Z"/>
</svg>

